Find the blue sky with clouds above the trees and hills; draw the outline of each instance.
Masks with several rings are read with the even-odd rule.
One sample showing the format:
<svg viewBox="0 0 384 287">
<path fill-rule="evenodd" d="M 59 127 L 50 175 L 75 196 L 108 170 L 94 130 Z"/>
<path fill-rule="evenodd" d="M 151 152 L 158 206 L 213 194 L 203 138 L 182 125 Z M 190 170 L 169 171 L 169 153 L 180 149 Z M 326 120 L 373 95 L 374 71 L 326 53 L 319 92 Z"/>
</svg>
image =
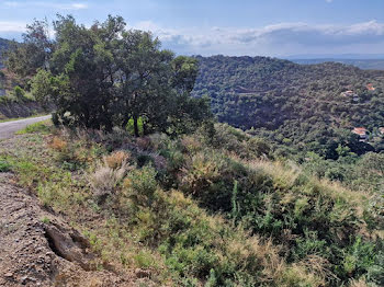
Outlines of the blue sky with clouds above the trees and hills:
<svg viewBox="0 0 384 287">
<path fill-rule="evenodd" d="M 0 0 L 0 37 L 57 13 L 86 25 L 121 15 L 184 55 L 384 54 L 384 0 Z"/>
</svg>

